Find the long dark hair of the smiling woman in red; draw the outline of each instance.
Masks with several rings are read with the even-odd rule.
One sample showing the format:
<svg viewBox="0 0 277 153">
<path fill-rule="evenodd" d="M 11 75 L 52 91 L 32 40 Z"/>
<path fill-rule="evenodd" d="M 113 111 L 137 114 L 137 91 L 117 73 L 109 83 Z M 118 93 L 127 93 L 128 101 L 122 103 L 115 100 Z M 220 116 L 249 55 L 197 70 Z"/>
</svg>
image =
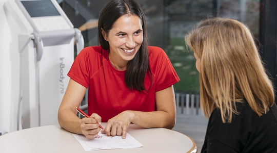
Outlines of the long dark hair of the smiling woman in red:
<svg viewBox="0 0 277 153">
<path fill-rule="evenodd" d="M 142 21 L 143 42 L 135 57 L 128 62 L 125 73 L 125 83 L 127 87 L 131 90 L 137 89 L 138 91 L 142 91 L 146 90 L 144 87 L 144 80 L 147 72 L 149 72 L 151 75 L 152 84 L 153 79 L 149 67 L 146 20 L 140 5 L 138 5 L 133 0 L 111 0 L 108 2 L 100 12 L 100 17 L 98 20 L 98 40 L 103 49 L 109 50 L 109 42 L 106 41 L 103 37 L 101 29 L 103 29 L 108 34 L 109 31 L 113 28 L 114 22 L 125 14 L 136 15 Z"/>
</svg>

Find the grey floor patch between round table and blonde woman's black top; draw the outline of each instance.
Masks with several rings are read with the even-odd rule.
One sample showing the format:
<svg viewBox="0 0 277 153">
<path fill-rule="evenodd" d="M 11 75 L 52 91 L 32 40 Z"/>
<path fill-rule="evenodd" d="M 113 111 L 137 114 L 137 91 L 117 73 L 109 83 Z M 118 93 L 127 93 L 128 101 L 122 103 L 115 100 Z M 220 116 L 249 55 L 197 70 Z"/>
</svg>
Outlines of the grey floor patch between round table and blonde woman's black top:
<svg viewBox="0 0 277 153">
<path fill-rule="evenodd" d="M 178 114 L 173 130 L 192 138 L 197 145 L 198 152 L 200 152 L 204 143 L 207 125 L 208 119 L 203 115 Z"/>
</svg>

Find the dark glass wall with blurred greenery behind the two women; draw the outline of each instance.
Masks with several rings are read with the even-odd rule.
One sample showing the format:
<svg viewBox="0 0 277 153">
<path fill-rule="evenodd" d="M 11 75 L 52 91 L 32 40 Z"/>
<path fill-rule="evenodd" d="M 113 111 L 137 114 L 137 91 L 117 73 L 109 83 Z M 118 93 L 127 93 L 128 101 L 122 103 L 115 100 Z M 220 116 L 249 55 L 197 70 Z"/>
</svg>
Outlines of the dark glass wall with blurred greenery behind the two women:
<svg viewBox="0 0 277 153">
<path fill-rule="evenodd" d="M 97 20 L 98 13 L 107 2 L 107 0 L 64 0 L 61 6 L 74 27 L 78 28 L 91 20 Z M 175 92 L 199 94 L 199 75 L 195 68 L 195 59 L 186 47 L 184 36 L 200 20 L 214 16 L 238 19 L 248 25 L 260 46 L 261 15 L 263 15 L 261 12 L 263 3 L 260 0 L 137 0 L 137 2 L 147 17 L 150 45 L 162 47 L 179 74 L 181 81 L 174 85 Z M 95 28 L 82 33 L 86 46 L 98 45 Z"/>
</svg>

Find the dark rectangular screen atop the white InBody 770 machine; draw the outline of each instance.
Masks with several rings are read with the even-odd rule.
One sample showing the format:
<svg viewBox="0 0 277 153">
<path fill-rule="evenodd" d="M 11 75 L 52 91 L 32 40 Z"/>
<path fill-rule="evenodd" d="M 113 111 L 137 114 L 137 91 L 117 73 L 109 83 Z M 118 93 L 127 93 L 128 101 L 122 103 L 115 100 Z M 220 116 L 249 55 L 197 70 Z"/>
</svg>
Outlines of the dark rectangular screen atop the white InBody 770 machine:
<svg viewBox="0 0 277 153">
<path fill-rule="evenodd" d="M 50 0 L 21 1 L 31 17 L 61 15 Z"/>
</svg>

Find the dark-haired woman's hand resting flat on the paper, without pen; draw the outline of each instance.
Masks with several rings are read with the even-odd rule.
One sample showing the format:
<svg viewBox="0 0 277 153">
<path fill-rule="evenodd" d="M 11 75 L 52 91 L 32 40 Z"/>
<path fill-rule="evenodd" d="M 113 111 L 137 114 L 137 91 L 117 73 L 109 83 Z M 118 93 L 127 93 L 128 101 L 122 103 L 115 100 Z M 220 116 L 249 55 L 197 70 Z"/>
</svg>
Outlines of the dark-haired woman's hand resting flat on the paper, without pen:
<svg viewBox="0 0 277 153">
<path fill-rule="evenodd" d="M 107 125 L 101 133 L 107 136 L 121 136 L 126 138 L 127 129 L 131 123 L 133 113 L 132 111 L 124 111 L 113 118 L 109 119 Z"/>
</svg>

